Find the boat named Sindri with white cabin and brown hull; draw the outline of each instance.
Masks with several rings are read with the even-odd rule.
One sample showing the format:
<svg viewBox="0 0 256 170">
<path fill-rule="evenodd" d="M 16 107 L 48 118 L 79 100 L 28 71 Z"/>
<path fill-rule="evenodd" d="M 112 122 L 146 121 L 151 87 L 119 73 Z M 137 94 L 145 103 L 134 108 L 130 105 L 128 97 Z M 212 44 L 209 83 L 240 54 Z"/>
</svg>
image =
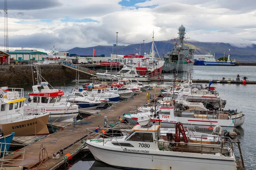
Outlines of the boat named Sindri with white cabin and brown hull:
<svg viewBox="0 0 256 170">
<path fill-rule="evenodd" d="M 3 133 L 16 136 L 49 135 L 49 112 L 44 107 L 24 111 L 23 88 L 0 88 L 0 125 Z"/>
</svg>

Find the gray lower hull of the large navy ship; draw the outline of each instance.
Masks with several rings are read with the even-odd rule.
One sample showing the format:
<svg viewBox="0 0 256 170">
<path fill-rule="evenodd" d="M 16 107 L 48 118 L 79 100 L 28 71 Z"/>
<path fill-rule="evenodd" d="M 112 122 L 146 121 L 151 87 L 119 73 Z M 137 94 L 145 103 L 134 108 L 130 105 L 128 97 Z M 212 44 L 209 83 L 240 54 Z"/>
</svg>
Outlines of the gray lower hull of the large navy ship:
<svg viewBox="0 0 256 170">
<path fill-rule="evenodd" d="M 193 69 L 194 63 L 171 63 L 171 62 L 165 62 L 163 65 L 163 72 L 184 72 L 189 71 Z"/>
</svg>

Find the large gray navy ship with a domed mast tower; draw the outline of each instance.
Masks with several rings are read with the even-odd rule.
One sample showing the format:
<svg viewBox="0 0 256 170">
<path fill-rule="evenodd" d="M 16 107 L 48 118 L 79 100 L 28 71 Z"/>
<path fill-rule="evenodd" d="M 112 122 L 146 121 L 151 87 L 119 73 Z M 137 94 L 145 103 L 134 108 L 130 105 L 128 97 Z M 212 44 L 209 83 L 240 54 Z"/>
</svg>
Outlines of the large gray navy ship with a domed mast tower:
<svg viewBox="0 0 256 170">
<path fill-rule="evenodd" d="M 179 27 L 179 41 L 175 42 L 172 51 L 164 56 L 163 72 L 183 72 L 193 69 L 195 49 L 184 45 L 185 30 L 183 25 Z"/>
</svg>

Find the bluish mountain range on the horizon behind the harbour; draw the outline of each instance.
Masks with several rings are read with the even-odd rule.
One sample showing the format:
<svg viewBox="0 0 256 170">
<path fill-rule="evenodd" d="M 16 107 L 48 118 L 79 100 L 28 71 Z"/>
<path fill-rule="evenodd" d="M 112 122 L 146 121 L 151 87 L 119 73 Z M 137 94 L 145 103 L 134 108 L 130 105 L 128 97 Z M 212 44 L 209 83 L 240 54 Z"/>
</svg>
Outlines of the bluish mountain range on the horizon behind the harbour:
<svg viewBox="0 0 256 170">
<path fill-rule="evenodd" d="M 163 58 L 167 52 L 171 51 L 174 45 L 174 40 L 168 41 L 154 41 L 155 47 L 154 51 Z M 150 53 L 152 42 L 144 44 L 144 52 Z M 236 47 L 230 45 L 229 43 L 223 42 L 186 42 L 185 45 L 189 45 L 190 48 L 195 49 L 195 54 L 215 54 L 215 59 L 220 57 L 228 56 L 228 51 L 230 49 L 230 58 L 236 59 L 237 61 L 256 61 L 256 45 L 252 44 L 247 47 Z M 116 47 L 113 46 L 103 46 L 98 45 L 94 47 L 79 48 L 75 47 L 67 52 L 69 54 L 78 54 L 79 56 L 92 56 L 93 48 L 96 50 L 96 56 L 105 55 L 105 57 L 110 57 L 111 54 L 116 54 Z M 157 50 L 156 50 L 157 49 Z M 132 44 L 132 45 L 122 45 L 117 48 L 118 54 L 127 55 L 127 54 L 143 54 L 143 43 L 141 44 Z"/>
</svg>

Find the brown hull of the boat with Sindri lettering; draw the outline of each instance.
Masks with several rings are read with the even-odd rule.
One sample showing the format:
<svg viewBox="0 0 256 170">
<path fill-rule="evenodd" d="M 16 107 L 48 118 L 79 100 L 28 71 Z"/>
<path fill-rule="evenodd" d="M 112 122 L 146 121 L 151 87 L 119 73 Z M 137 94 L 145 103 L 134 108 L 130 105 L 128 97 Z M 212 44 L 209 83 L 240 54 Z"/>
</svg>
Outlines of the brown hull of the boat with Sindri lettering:
<svg viewBox="0 0 256 170">
<path fill-rule="evenodd" d="M 39 133 L 43 130 L 48 122 L 49 114 L 41 116 L 30 117 L 17 122 L 3 123 L 3 133 L 8 134 L 15 132 L 16 136 L 30 136 L 30 135 L 49 135 L 49 131 L 44 130 L 44 134 Z"/>
</svg>

